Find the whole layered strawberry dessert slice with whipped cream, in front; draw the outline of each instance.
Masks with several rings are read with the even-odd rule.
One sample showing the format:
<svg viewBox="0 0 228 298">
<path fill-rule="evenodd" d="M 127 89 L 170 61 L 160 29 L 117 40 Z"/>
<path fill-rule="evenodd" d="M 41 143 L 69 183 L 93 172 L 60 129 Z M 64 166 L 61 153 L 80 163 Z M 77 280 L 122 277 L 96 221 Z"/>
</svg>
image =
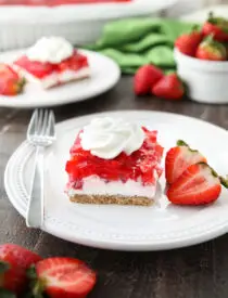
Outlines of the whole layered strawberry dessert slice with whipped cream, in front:
<svg viewBox="0 0 228 298">
<path fill-rule="evenodd" d="M 66 163 L 69 199 L 151 205 L 162 173 L 156 134 L 122 119 L 93 119 L 78 133 Z"/>
</svg>

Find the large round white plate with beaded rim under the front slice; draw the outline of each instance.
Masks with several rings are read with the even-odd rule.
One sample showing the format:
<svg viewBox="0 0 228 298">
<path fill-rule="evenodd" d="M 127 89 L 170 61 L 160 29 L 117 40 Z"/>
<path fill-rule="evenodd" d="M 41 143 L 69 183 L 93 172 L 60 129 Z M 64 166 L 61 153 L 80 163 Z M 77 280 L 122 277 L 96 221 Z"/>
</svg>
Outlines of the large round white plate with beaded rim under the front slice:
<svg viewBox="0 0 228 298">
<path fill-rule="evenodd" d="M 183 139 L 202 151 L 211 165 L 225 174 L 228 169 L 228 133 L 211 124 L 160 112 L 103 113 L 124 117 L 159 130 L 165 150 Z M 96 115 L 98 116 L 98 114 Z M 151 207 L 78 205 L 64 194 L 64 171 L 68 151 L 78 130 L 94 115 L 74 118 L 56 126 L 58 140 L 46 155 L 46 194 L 43 231 L 58 237 L 100 248 L 159 250 L 189 246 L 228 231 L 227 191 L 206 207 L 177 207 L 163 195 Z M 4 176 L 8 196 L 22 216 L 27 206 L 33 168 L 33 147 L 24 142 L 11 157 Z M 164 176 L 161 179 L 164 189 Z"/>
</svg>

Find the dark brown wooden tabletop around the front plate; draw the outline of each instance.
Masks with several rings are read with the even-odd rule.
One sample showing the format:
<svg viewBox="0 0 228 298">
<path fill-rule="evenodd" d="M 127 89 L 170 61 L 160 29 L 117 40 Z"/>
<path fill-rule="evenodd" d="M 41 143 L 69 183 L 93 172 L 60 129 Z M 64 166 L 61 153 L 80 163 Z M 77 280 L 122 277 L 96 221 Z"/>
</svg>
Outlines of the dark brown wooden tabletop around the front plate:
<svg viewBox="0 0 228 298">
<path fill-rule="evenodd" d="M 165 111 L 189 115 L 228 128 L 228 105 L 204 105 L 185 100 L 162 101 L 134 96 L 125 77 L 107 93 L 54 108 L 56 121 L 117 109 Z M 0 243 L 12 242 L 43 257 L 73 256 L 91 264 L 99 282 L 91 298 L 227 298 L 228 235 L 198 246 L 155 252 L 121 252 L 67 243 L 27 229 L 8 200 L 3 172 L 9 157 L 25 139 L 31 111 L 0 108 Z"/>
</svg>

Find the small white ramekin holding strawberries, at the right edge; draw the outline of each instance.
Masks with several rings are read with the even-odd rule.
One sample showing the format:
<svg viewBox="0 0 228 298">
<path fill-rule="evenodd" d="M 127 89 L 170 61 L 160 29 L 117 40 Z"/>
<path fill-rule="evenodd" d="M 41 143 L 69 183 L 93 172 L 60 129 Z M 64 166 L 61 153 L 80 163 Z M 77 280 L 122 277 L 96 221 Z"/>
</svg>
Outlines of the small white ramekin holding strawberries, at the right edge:
<svg viewBox="0 0 228 298">
<path fill-rule="evenodd" d="M 203 61 L 175 49 L 178 76 L 186 82 L 188 95 L 202 103 L 228 103 L 228 62 Z"/>
</svg>

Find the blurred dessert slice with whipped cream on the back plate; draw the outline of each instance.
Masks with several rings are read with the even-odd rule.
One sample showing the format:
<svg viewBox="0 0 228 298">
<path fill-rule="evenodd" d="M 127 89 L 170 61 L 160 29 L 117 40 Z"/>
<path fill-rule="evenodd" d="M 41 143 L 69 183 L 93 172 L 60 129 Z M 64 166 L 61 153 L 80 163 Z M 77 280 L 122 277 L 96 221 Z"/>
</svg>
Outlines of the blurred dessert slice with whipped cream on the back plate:
<svg viewBox="0 0 228 298">
<path fill-rule="evenodd" d="M 27 81 L 45 89 L 90 76 L 87 57 L 61 37 L 43 37 L 13 63 Z"/>
</svg>

